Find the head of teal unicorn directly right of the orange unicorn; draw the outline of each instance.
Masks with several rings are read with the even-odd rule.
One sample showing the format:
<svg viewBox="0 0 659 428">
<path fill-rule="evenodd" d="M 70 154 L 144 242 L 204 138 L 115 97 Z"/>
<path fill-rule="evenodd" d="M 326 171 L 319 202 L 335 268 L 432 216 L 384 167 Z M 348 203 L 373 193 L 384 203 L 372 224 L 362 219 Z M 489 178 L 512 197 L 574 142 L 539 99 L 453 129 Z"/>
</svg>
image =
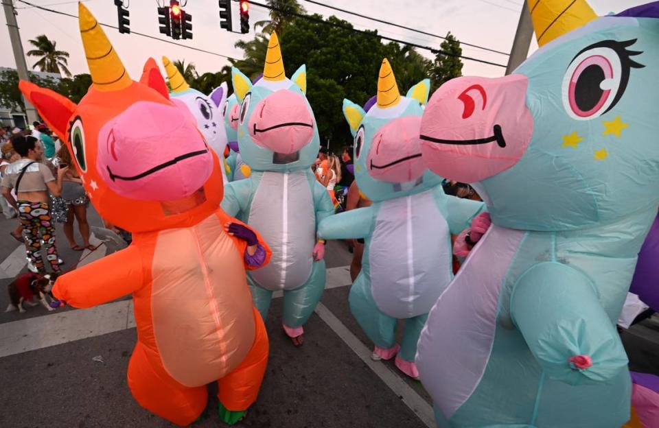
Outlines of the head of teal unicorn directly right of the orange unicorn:
<svg viewBox="0 0 659 428">
<path fill-rule="evenodd" d="M 314 163 L 320 148 L 314 112 L 305 97 L 307 73 L 300 67 L 289 80 L 277 34 L 268 43 L 263 78 L 252 84 L 231 69 L 240 105 L 238 145 L 255 171 L 300 171 Z"/>
</svg>

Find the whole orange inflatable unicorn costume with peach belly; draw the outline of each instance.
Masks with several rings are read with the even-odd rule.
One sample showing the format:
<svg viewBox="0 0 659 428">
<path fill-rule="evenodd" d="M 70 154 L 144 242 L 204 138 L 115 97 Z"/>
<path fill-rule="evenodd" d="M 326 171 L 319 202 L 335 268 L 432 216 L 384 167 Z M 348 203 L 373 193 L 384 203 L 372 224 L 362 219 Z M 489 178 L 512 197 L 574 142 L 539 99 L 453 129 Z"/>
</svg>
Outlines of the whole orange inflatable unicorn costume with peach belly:
<svg viewBox="0 0 659 428">
<path fill-rule="evenodd" d="M 218 157 L 159 73 L 133 82 L 96 19 L 82 4 L 79 12 L 93 82 L 80 104 L 20 87 L 66 141 L 95 209 L 133 241 L 60 276 L 53 293 L 81 308 L 132 294 L 135 399 L 188 425 L 207 406 L 206 384 L 217 381 L 220 416 L 235 423 L 256 400 L 268 358 L 245 269 L 266 264 L 270 250 L 219 208 Z"/>
</svg>

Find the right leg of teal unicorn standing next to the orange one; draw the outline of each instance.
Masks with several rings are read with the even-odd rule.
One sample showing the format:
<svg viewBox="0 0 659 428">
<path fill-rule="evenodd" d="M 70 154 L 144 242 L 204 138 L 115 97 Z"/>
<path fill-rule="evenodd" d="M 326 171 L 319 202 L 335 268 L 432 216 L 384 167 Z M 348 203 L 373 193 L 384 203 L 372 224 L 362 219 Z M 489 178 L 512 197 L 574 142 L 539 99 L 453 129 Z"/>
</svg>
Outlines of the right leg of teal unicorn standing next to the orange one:
<svg viewBox="0 0 659 428">
<path fill-rule="evenodd" d="M 325 290 L 325 261 L 315 261 L 307 282 L 296 289 L 284 292 L 284 326 L 286 333 L 297 337 L 301 327 L 309 320 Z"/>
</svg>

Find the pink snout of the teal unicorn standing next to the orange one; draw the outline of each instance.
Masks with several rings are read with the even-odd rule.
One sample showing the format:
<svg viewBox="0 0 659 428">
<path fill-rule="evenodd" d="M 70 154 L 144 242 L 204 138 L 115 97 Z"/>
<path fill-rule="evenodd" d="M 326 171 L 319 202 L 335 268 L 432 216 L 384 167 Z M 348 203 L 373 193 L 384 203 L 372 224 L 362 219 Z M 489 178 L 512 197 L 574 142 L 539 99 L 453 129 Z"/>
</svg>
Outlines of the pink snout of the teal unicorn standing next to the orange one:
<svg viewBox="0 0 659 428">
<path fill-rule="evenodd" d="M 310 143 L 314 118 L 301 95 L 282 90 L 257 104 L 248 130 L 258 145 L 275 153 L 292 154 Z"/>
</svg>

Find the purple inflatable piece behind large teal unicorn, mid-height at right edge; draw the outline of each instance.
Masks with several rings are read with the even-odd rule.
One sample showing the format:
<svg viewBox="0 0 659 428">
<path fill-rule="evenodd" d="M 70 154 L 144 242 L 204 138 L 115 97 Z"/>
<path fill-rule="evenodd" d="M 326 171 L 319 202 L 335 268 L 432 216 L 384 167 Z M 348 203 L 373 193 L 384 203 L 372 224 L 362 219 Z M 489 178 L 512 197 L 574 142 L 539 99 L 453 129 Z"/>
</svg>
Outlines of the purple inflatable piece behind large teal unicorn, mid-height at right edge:
<svg viewBox="0 0 659 428">
<path fill-rule="evenodd" d="M 659 216 L 654 219 L 638 253 L 638 262 L 629 292 L 637 294 L 646 305 L 659 311 Z"/>
</svg>

